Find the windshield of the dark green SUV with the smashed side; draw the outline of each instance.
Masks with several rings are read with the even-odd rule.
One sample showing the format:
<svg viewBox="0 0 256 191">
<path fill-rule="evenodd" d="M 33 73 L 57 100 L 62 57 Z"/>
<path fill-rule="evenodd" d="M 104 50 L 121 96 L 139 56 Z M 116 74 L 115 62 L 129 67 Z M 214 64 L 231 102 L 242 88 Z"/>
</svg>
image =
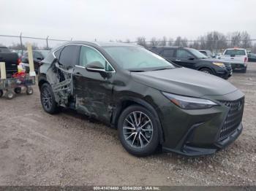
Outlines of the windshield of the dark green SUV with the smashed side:
<svg viewBox="0 0 256 191">
<path fill-rule="evenodd" d="M 103 47 L 113 60 L 129 71 L 151 71 L 173 69 L 172 63 L 143 47 Z"/>
</svg>

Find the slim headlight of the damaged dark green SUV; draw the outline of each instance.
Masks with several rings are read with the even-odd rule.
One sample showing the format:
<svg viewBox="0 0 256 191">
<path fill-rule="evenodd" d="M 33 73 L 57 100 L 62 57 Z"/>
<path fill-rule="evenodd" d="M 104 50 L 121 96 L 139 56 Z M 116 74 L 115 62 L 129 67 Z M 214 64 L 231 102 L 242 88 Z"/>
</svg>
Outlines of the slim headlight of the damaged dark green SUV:
<svg viewBox="0 0 256 191">
<path fill-rule="evenodd" d="M 217 106 L 218 104 L 214 103 L 211 100 L 203 98 L 192 98 L 187 96 L 175 95 L 172 93 L 162 92 L 173 104 L 181 107 L 182 109 L 207 109 L 212 106 Z"/>
</svg>

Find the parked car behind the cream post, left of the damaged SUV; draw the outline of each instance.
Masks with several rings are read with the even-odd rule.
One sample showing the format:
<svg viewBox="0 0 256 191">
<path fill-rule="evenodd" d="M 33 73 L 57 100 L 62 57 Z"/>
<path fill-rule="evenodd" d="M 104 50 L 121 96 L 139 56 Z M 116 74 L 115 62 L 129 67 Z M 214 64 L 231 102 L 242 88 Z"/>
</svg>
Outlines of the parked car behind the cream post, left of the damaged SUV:
<svg viewBox="0 0 256 191">
<path fill-rule="evenodd" d="M 33 60 L 34 60 L 34 71 L 38 72 L 39 62 L 41 62 L 48 55 L 50 50 L 33 50 Z M 26 71 L 29 70 L 29 58 L 28 52 L 24 52 L 23 57 L 21 58 L 23 69 Z M 25 64 L 24 64 L 25 63 Z"/>
</svg>

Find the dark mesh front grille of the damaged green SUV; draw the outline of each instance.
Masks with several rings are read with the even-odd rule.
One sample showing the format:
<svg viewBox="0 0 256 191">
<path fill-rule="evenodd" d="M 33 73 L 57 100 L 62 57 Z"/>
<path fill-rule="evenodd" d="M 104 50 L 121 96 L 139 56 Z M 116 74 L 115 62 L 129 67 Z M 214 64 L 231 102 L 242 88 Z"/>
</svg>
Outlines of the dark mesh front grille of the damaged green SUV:
<svg viewBox="0 0 256 191">
<path fill-rule="evenodd" d="M 220 101 L 225 106 L 230 108 L 227 114 L 227 118 L 222 126 L 219 134 L 219 141 L 226 139 L 232 133 L 236 131 L 238 125 L 240 124 L 243 111 L 244 111 L 244 98 L 240 98 L 236 101 Z"/>
</svg>

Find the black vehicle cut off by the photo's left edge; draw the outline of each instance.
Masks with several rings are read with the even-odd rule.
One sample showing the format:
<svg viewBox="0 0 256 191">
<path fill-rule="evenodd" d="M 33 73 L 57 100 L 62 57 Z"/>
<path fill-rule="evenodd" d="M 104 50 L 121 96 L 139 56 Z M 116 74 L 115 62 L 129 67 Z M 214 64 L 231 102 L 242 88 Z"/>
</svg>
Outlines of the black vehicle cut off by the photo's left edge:
<svg viewBox="0 0 256 191">
<path fill-rule="evenodd" d="M 7 78 L 10 78 L 18 71 L 20 59 L 16 52 L 11 52 L 7 47 L 0 47 L 0 62 L 5 62 Z"/>
</svg>

